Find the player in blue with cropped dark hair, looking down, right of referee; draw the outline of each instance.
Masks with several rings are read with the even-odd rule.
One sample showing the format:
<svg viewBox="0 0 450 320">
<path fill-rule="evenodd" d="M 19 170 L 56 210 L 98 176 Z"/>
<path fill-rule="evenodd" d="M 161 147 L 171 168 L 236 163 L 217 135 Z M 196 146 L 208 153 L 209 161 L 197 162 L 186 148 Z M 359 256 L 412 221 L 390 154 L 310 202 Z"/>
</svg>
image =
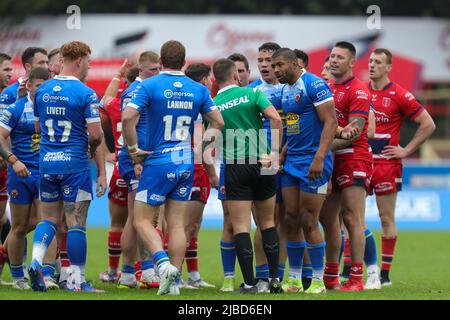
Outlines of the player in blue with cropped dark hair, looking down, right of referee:
<svg viewBox="0 0 450 320">
<path fill-rule="evenodd" d="M 333 167 L 330 148 L 337 129 L 333 95 L 325 81 L 300 68 L 297 56 L 288 48 L 273 54 L 272 66 L 278 80 L 286 83 L 282 96 L 288 140 L 283 148 L 282 178 L 286 218 L 282 223 L 290 270 L 283 289 L 303 290 L 301 269 L 306 246 L 313 280 L 305 292 L 322 293 L 325 242 L 318 219 Z M 300 230 L 306 242 L 296 241 Z"/>
</svg>

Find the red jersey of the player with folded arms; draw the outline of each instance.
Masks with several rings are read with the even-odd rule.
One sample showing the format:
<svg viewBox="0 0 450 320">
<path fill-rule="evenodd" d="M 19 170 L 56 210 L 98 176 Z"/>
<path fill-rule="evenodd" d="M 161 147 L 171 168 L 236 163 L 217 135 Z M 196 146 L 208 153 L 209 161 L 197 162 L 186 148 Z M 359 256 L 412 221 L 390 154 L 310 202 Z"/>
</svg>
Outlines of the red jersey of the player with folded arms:
<svg viewBox="0 0 450 320">
<path fill-rule="evenodd" d="M 352 76 L 341 84 L 332 82 L 330 87 L 334 95 L 336 117 L 340 127 L 344 128 L 348 125 L 351 117 L 357 116 L 366 120 L 360 137 L 353 141 L 351 145 L 337 149 L 335 159 L 353 159 L 372 162 L 372 152 L 367 141 L 367 127 L 369 125 L 368 119 L 371 102 L 370 91 L 367 85 Z"/>
</svg>

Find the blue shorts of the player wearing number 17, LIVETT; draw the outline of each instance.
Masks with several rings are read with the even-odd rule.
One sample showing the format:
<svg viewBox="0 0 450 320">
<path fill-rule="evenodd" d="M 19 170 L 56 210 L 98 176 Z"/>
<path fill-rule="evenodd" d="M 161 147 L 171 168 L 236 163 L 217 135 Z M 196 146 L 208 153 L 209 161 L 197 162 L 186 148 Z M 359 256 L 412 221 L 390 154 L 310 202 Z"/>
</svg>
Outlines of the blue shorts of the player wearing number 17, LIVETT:
<svg viewBox="0 0 450 320">
<path fill-rule="evenodd" d="M 92 200 L 91 171 L 67 174 L 42 174 L 39 186 L 43 202 L 80 202 Z"/>
</svg>

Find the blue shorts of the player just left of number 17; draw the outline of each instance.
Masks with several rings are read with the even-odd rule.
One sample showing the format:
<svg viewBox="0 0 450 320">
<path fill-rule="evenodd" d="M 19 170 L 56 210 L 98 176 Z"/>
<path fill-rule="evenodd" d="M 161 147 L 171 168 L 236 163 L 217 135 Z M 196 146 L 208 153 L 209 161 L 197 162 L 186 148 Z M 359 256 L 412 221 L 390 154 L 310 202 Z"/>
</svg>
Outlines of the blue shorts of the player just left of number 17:
<svg viewBox="0 0 450 320">
<path fill-rule="evenodd" d="M 39 199 L 39 170 L 29 171 L 31 175 L 22 178 L 14 170 L 8 170 L 6 186 L 11 203 L 32 204 L 34 199 Z"/>
</svg>

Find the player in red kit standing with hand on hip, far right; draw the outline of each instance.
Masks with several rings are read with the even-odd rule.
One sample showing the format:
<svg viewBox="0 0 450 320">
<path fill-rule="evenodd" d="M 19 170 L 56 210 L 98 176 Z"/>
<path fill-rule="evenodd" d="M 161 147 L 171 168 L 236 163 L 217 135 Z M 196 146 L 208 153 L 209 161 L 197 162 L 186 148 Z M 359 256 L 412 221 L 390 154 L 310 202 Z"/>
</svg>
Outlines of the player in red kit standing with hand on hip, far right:
<svg viewBox="0 0 450 320">
<path fill-rule="evenodd" d="M 389 270 L 394 256 L 397 229 L 395 205 L 397 192 L 402 189 L 402 159 L 416 151 L 433 133 L 433 119 L 414 96 L 389 79 L 392 54 L 378 48 L 369 59 L 369 89 L 376 115 L 375 137 L 370 141 L 374 167 L 370 193 L 376 195 L 383 235 L 381 238 L 382 286 L 391 285 Z M 405 118 L 419 125 L 412 140 L 401 147 L 400 127 Z"/>
</svg>

